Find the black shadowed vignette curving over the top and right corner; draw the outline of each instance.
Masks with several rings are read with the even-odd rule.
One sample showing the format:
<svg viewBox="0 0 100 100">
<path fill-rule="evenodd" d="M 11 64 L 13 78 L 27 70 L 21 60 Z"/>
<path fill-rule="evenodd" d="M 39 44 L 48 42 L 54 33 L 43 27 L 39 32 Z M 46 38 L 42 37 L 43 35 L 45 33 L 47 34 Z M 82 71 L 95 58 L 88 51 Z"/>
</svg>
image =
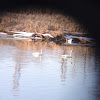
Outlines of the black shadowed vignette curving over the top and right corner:
<svg viewBox="0 0 100 100">
<path fill-rule="evenodd" d="M 40 8 L 53 8 L 64 11 L 75 17 L 100 41 L 100 6 L 96 0 L 3 0 L 0 3 L 0 11 L 12 10 L 19 7 L 39 6 Z"/>
</svg>

